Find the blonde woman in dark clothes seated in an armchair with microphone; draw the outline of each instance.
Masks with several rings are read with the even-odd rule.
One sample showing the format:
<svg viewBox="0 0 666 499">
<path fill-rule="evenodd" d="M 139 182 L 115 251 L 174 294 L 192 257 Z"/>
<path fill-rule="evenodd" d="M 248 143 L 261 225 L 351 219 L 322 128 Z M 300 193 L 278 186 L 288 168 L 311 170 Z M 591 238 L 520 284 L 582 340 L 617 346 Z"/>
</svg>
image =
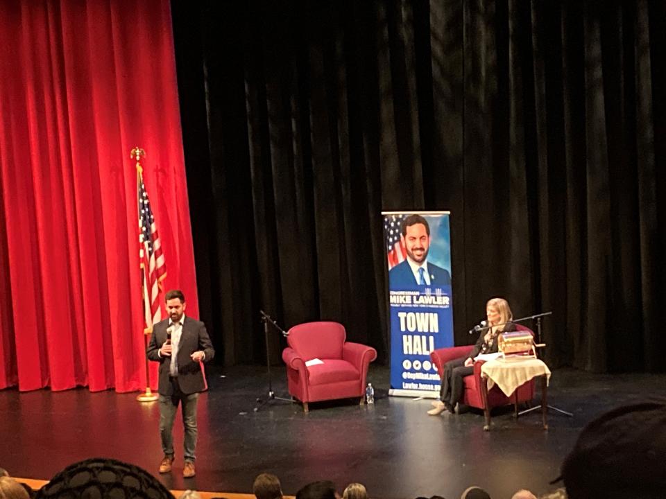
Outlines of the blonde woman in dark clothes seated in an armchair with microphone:
<svg viewBox="0 0 666 499">
<path fill-rule="evenodd" d="M 479 340 L 467 357 L 450 360 L 444 365 L 442 387 L 439 400 L 433 402 L 434 409 L 428 411 L 431 416 L 437 416 L 446 409 L 454 413 L 456 403 L 463 394 L 463 378 L 474 371 L 474 358 L 479 353 L 497 353 L 497 336 L 505 331 L 515 331 L 515 324 L 511 322 L 511 308 L 504 298 L 493 298 L 486 304 L 486 317 L 488 329 L 481 331 Z"/>
</svg>

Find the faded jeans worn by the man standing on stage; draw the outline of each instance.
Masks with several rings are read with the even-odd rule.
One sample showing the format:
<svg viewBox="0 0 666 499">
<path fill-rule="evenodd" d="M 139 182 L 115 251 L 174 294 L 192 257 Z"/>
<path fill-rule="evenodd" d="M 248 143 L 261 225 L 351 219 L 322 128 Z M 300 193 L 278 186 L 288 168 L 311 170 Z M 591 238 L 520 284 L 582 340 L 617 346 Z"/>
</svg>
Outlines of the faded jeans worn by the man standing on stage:
<svg viewBox="0 0 666 499">
<path fill-rule="evenodd" d="M 185 461 L 194 462 L 196 450 L 196 401 L 198 393 L 185 395 L 180 391 L 178 380 L 172 379 L 173 394 L 160 395 L 160 437 L 162 437 L 162 450 L 164 455 L 173 456 L 173 420 L 176 419 L 178 403 L 181 404 L 182 424 L 185 428 Z"/>
</svg>

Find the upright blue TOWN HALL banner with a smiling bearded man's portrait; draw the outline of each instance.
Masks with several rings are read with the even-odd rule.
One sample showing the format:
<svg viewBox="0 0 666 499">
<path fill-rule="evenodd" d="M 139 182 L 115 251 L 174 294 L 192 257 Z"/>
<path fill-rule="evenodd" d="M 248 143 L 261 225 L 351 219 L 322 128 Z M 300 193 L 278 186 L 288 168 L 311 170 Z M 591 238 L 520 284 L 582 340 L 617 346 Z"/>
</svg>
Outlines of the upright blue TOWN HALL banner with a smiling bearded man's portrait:
<svg viewBox="0 0 666 499">
<path fill-rule="evenodd" d="M 391 319 L 389 394 L 436 396 L 433 350 L 453 346 L 448 211 L 383 211 Z"/>
</svg>

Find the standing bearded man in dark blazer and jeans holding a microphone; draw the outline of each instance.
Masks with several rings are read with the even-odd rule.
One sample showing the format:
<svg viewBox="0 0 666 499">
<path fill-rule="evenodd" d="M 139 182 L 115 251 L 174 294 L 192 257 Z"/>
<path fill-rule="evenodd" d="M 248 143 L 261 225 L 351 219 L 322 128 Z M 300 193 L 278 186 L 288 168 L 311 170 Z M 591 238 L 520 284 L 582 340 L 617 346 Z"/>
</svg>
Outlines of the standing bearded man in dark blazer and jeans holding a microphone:
<svg viewBox="0 0 666 499">
<path fill-rule="evenodd" d="M 215 355 L 203 322 L 185 316 L 185 296 L 180 290 L 171 290 L 164 296 L 169 319 L 153 326 L 148 344 L 148 359 L 160 362 L 160 437 L 164 458 L 160 473 L 169 473 L 173 464 L 173 437 L 171 430 L 178 404 L 182 403 L 182 423 L 185 427 L 185 465 L 182 475 L 195 475 L 196 402 L 205 389 L 200 362 L 209 362 Z"/>
</svg>

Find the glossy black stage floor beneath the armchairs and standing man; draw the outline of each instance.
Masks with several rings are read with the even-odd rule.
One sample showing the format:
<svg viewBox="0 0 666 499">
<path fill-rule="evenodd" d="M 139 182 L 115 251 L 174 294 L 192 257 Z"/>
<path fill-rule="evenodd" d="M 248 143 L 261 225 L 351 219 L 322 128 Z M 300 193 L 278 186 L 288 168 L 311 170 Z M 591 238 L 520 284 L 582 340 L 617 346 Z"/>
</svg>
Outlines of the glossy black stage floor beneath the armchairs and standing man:
<svg viewBox="0 0 666 499">
<path fill-rule="evenodd" d="M 273 387 L 286 393 L 284 368 L 273 369 Z M 276 379 L 275 379 L 276 378 Z M 509 498 L 524 487 L 551 491 L 563 457 L 581 428 L 597 414 L 630 401 L 663 394 L 666 375 L 595 375 L 554 371 L 549 402 L 574 413 L 538 411 L 515 421 L 511 410 L 494 413 L 483 431 L 483 414 L 426 414 L 429 400 L 386 396 L 388 369 L 371 367 L 377 386 L 374 406 L 357 403 L 300 405 L 273 401 L 253 412 L 267 392 L 265 369 L 210 371 L 210 392 L 199 401 L 197 476 L 182 470 L 182 423 L 176 421 L 176 470 L 160 478 L 170 489 L 249 493 L 255 475 L 275 473 L 284 493 L 314 480 L 334 480 L 340 491 L 361 482 L 372 498 L 413 499 L 439 494 L 458 498 L 475 484 L 493 498 Z M 384 387 L 384 389 L 382 389 Z M 48 479 L 86 457 L 114 457 L 157 475 L 162 455 L 156 403 L 136 394 L 0 392 L 0 466 L 22 478 Z M 538 398 L 537 398 L 538 401 Z"/>
</svg>

